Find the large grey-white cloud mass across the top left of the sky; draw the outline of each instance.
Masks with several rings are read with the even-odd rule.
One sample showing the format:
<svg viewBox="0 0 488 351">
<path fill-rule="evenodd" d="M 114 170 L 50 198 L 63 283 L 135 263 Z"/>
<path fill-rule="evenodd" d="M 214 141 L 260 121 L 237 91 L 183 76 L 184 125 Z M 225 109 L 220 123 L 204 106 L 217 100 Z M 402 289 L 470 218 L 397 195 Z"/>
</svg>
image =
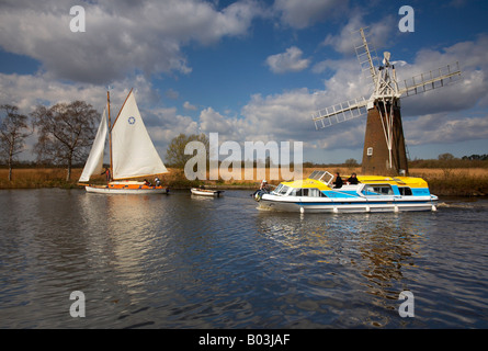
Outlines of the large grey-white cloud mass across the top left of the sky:
<svg viewBox="0 0 488 351">
<path fill-rule="evenodd" d="M 182 46 L 246 35 L 260 14 L 253 1 L 238 1 L 222 11 L 197 0 L 100 0 L 83 2 L 83 8 L 86 32 L 72 33 L 68 3 L 3 3 L 0 45 L 37 59 L 55 79 L 106 84 L 136 71 L 189 73 Z"/>
</svg>

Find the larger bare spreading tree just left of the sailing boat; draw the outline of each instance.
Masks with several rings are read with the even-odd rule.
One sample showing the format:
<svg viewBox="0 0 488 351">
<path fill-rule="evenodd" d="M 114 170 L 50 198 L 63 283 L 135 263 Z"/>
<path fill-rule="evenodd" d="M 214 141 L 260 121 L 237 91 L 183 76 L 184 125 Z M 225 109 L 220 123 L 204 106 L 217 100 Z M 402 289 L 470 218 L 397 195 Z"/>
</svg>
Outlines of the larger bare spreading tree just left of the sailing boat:
<svg viewBox="0 0 488 351">
<path fill-rule="evenodd" d="M 100 113 L 84 101 L 75 101 L 52 107 L 39 105 L 32 116 L 38 128 L 37 160 L 66 166 L 69 181 L 72 165 L 87 159 Z"/>
</svg>

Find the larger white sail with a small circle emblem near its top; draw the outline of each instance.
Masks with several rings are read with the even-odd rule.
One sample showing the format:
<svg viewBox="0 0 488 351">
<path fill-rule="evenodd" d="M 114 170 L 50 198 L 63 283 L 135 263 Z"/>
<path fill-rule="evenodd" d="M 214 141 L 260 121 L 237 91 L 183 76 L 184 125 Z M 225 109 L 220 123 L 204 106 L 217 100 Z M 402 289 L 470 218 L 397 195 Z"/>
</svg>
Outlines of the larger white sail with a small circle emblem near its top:
<svg viewBox="0 0 488 351">
<path fill-rule="evenodd" d="M 168 172 L 147 133 L 132 91 L 112 126 L 112 166 L 113 179 Z"/>
</svg>

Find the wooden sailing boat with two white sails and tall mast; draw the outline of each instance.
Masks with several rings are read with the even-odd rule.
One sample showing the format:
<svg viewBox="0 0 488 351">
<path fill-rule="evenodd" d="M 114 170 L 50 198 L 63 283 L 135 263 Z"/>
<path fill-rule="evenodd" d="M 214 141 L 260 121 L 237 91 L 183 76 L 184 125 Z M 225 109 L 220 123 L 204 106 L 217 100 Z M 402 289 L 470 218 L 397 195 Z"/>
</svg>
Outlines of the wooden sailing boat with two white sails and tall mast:
<svg viewBox="0 0 488 351">
<path fill-rule="evenodd" d="M 147 133 L 133 91 L 128 93 L 112 125 L 109 92 L 106 92 L 106 98 L 109 120 L 104 111 L 79 184 L 84 185 L 88 192 L 105 194 L 168 193 L 168 188 L 159 184 L 146 185 L 146 182 L 128 181 L 132 178 L 168 173 L 168 170 Z M 103 172 L 103 154 L 107 134 L 111 181 L 106 185 L 87 184 L 91 176 Z"/>
</svg>

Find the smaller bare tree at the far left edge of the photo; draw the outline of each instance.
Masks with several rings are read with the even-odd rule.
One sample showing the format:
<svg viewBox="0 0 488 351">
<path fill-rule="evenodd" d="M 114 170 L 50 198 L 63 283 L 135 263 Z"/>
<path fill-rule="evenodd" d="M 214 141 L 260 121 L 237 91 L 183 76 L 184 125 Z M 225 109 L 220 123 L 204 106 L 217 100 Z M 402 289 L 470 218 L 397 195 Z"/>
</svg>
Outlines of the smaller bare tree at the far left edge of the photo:
<svg viewBox="0 0 488 351">
<path fill-rule="evenodd" d="M 4 104 L 0 106 L 0 154 L 9 166 L 9 181 L 12 181 L 12 168 L 15 156 L 22 152 L 27 129 L 27 116 L 19 114 L 19 107 Z"/>
</svg>

